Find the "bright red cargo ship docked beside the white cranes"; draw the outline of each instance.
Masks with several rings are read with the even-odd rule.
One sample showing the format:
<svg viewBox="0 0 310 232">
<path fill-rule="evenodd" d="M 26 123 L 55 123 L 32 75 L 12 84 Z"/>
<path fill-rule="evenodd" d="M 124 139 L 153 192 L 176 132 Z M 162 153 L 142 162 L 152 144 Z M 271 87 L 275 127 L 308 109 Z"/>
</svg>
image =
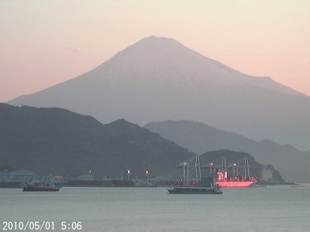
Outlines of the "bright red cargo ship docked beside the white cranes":
<svg viewBox="0 0 310 232">
<path fill-rule="evenodd" d="M 228 176 L 227 172 L 217 171 L 217 175 L 214 176 L 213 182 L 219 185 L 221 188 L 253 187 L 257 182 L 257 177 L 245 175 Z"/>
</svg>

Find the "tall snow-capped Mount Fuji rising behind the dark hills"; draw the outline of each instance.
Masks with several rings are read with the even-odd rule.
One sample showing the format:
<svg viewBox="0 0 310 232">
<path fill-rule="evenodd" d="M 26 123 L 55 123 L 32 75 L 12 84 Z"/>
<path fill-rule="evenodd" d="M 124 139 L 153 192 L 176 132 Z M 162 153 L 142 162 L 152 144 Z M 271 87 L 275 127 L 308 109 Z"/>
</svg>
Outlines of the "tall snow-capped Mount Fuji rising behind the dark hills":
<svg viewBox="0 0 310 232">
<path fill-rule="evenodd" d="M 309 96 L 169 38 L 141 39 L 88 73 L 7 103 L 65 108 L 102 123 L 186 119 L 310 149 Z"/>
</svg>

